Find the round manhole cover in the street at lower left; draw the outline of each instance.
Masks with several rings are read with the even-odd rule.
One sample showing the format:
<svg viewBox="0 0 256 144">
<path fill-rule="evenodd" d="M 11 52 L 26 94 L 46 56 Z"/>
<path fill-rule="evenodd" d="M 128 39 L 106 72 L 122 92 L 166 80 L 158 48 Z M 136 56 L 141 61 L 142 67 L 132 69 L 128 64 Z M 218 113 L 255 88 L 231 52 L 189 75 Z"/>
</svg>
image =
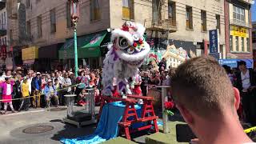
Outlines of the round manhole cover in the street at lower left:
<svg viewBox="0 0 256 144">
<path fill-rule="evenodd" d="M 53 126 L 30 126 L 22 130 L 25 134 L 41 134 L 46 133 L 47 131 L 54 130 Z"/>
</svg>

